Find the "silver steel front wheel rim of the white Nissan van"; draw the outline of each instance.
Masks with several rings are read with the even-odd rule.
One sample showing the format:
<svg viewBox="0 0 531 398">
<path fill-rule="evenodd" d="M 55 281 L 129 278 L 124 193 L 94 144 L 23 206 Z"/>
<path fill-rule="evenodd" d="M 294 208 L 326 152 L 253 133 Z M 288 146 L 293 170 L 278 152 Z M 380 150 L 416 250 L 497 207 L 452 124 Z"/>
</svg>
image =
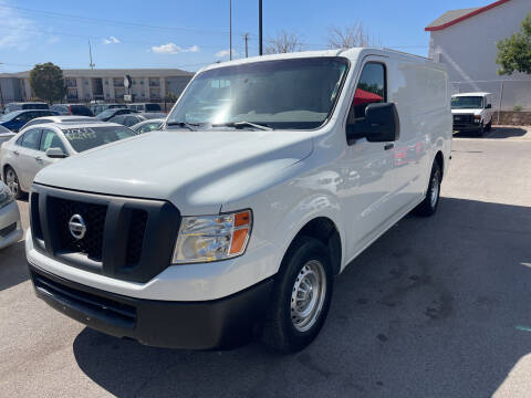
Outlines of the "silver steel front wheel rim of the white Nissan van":
<svg viewBox="0 0 531 398">
<path fill-rule="evenodd" d="M 299 332 L 315 325 L 326 297 L 326 275 L 317 260 L 311 260 L 296 275 L 291 293 L 291 322 Z"/>
</svg>

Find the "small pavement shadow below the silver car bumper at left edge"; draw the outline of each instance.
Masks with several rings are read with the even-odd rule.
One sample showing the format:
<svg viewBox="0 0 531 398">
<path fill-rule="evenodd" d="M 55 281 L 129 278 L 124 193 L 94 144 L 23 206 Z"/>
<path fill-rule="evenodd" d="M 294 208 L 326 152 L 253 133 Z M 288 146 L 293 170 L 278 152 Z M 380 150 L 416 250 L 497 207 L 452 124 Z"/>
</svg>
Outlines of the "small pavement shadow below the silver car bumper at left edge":
<svg viewBox="0 0 531 398">
<path fill-rule="evenodd" d="M 29 277 L 24 241 L 0 249 L 0 291 L 18 285 Z"/>
</svg>

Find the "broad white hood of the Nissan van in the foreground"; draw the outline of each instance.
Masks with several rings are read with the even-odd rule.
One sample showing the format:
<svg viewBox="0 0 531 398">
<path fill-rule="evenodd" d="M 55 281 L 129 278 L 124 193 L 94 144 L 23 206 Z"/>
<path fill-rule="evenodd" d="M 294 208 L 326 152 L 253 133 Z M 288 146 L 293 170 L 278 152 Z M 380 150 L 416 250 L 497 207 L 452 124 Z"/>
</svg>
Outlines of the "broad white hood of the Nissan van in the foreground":
<svg viewBox="0 0 531 398">
<path fill-rule="evenodd" d="M 42 169 L 37 184 L 173 202 L 185 216 L 218 213 L 313 150 L 310 132 L 152 132 Z"/>
</svg>

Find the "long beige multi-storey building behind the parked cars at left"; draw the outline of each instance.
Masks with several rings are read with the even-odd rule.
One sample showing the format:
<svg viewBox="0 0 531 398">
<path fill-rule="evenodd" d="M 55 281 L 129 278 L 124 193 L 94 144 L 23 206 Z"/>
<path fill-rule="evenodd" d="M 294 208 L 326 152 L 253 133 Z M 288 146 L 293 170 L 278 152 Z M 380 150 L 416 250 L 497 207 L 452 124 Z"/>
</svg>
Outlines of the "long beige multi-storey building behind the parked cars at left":
<svg viewBox="0 0 531 398">
<path fill-rule="evenodd" d="M 123 101 L 124 95 L 128 94 L 124 86 L 126 75 L 129 75 L 132 80 L 129 94 L 133 95 L 134 102 L 162 102 L 169 93 L 178 96 L 194 73 L 178 69 L 63 70 L 67 88 L 65 101 Z M 1 73 L 0 84 L 3 102 L 33 98 L 29 76 L 30 71 Z"/>
</svg>

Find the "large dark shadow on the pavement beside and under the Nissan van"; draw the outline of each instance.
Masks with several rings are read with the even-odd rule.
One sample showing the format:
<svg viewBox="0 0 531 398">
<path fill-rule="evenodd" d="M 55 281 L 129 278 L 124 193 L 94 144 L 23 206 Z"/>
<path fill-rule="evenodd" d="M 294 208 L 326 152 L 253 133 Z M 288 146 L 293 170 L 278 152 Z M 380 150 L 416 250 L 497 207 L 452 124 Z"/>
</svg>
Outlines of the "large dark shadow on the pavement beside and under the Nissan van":
<svg viewBox="0 0 531 398">
<path fill-rule="evenodd" d="M 88 328 L 81 369 L 118 397 L 485 397 L 529 353 L 531 208 L 442 198 L 336 279 L 317 339 L 279 356 L 142 346 Z M 183 320 L 186 322 L 186 320 Z"/>
</svg>

